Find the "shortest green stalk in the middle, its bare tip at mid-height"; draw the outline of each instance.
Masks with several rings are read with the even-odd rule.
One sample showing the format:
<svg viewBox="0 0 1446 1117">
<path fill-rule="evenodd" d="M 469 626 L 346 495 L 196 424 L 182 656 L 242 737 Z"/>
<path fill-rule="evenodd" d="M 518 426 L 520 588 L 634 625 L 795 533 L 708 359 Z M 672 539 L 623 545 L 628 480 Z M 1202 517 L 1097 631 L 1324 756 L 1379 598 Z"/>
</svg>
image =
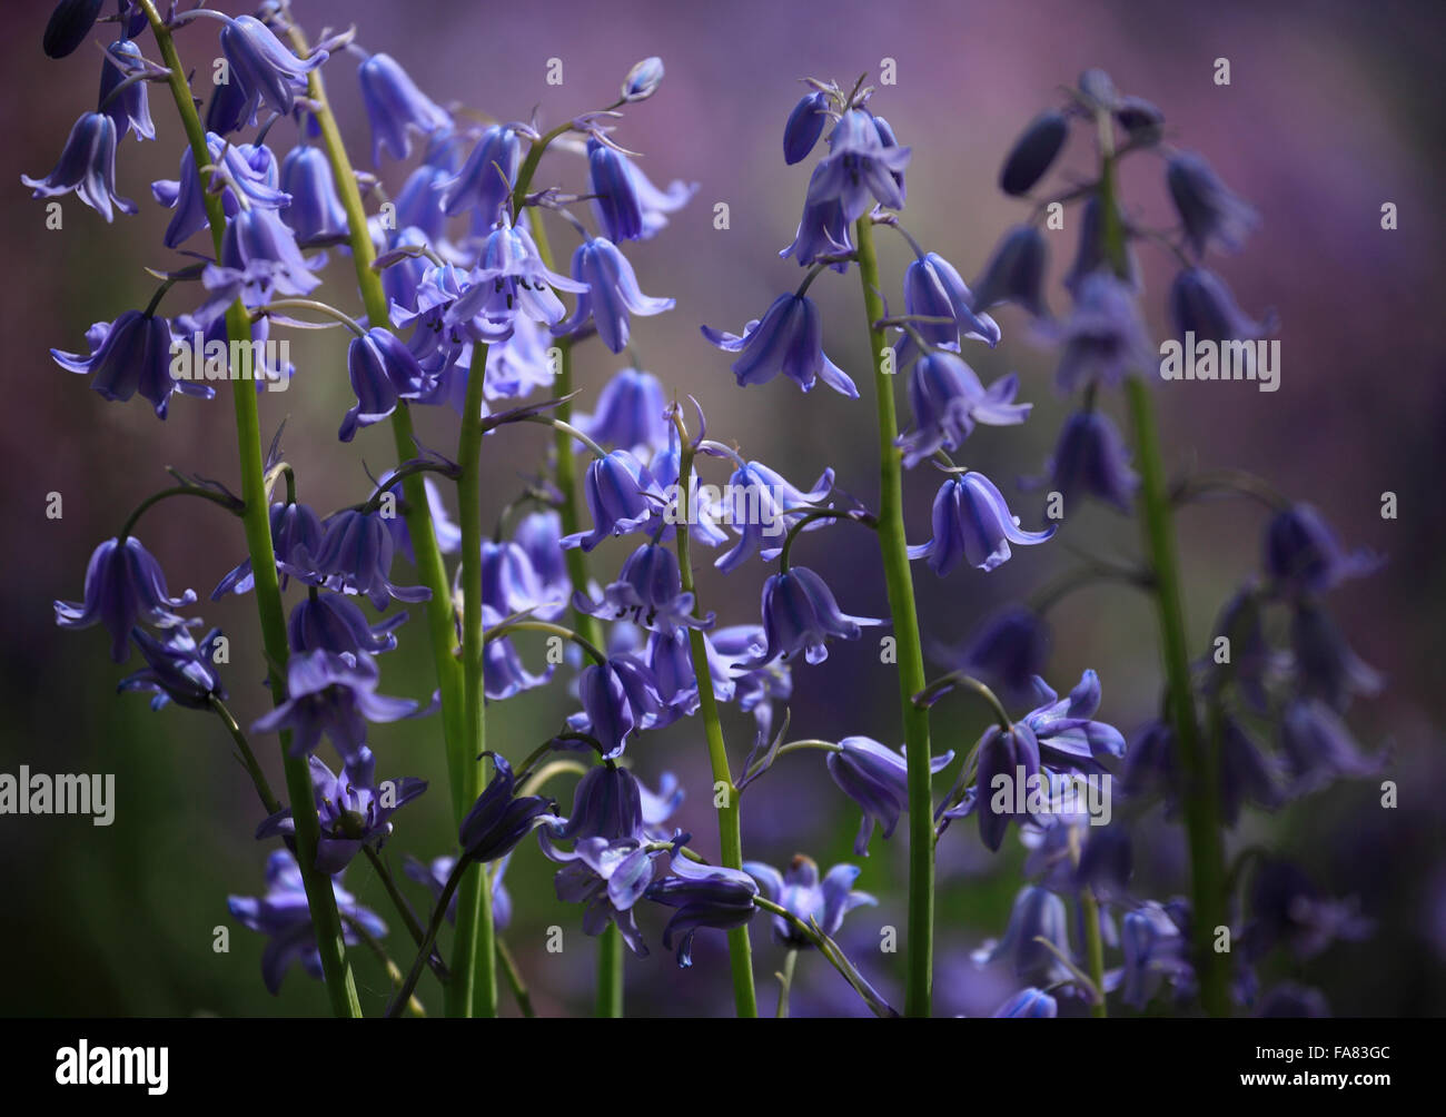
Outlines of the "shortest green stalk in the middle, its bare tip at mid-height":
<svg viewBox="0 0 1446 1117">
<path fill-rule="evenodd" d="M 678 550 L 678 570 L 683 574 L 683 592 L 693 595 L 693 612 L 701 615 L 697 592 L 693 582 L 693 561 L 688 557 L 688 493 L 693 488 L 693 446 L 688 443 L 683 424 L 678 422 L 683 436 L 683 450 L 678 457 L 678 492 L 680 517 L 674 531 L 674 541 Z M 688 650 L 693 654 L 693 674 L 698 680 L 698 708 L 703 715 L 703 728 L 709 741 L 709 763 L 713 767 L 714 793 L 723 791 L 723 806 L 719 807 L 719 859 L 727 868 L 743 868 L 743 831 L 742 812 L 739 810 L 737 787 L 733 786 L 733 774 L 729 771 L 727 748 L 723 744 L 723 723 L 719 719 L 717 696 L 713 693 L 713 674 L 709 667 L 707 645 L 703 642 L 703 632 L 697 628 L 688 629 Z M 758 994 L 753 988 L 753 946 L 748 936 L 748 926 L 735 927 L 727 933 L 729 968 L 733 972 L 733 1004 L 740 1017 L 758 1016 Z"/>
</svg>

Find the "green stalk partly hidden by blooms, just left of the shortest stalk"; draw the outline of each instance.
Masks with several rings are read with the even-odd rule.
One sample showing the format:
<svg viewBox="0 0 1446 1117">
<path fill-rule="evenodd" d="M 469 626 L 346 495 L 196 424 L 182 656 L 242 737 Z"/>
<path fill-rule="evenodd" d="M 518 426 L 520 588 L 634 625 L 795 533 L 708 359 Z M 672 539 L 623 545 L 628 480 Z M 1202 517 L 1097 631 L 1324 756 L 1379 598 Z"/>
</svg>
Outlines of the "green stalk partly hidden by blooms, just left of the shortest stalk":
<svg viewBox="0 0 1446 1117">
<path fill-rule="evenodd" d="M 564 129 L 565 130 L 565 129 Z M 561 132 L 558 132 L 561 135 Z M 542 156 L 542 146 L 534 145 L 538 153 L 538 159 Z M 532 171 L 536 169 L 536 162 L 532 161 L 532 152 L 528 152 L 528 161 L 531 162 Z M 523 165 L 523 172 L 518 178 L 519 190 L 525 188 L 531 182 L 531 172 Z M 522 195 L 515 198 L 515 204 L 521 204 Z M 536 220 L 532 221 L 532 242 L 538 246 L 538 255 L 542 258 L 542 263 L 549 269 L 552 265 L 552 246 L 547 239 L 547 229 L 542 223 L 542 216 L 538 214 Z M 562 337 L 557 343 L 558 346 L 558 369 L 557 369 L 557 391 L 552 392 L 554 396 L 562 398 L 562 402 L 552 411 L 552 415 L 562 422 L 573 418 L 573 401 L 568 399 L 573 394 L 573 341 L 568 337 Z M 577 464 L 573 449 L 573 437 L 561 427 L 554 431 L 552 440 L 555 467 L 552 472 L 552 483 L 557 485 L 558 493 L 561 493 L 561 506 L 558 508 L 558 517 L 562 521 L 562 534 L 571 535 L 580 531 L 578 521 L 578 505 L 577 505 Z M 573 583 L 573 589 L 587 593 L 587 556 L 583 553 L 581 547 L 571 547 L 565 553 L 567 561 L 567 577 Z M 578 635 L 587 640 L 594 647 L 603 645 L 603 627 L 597 622 L 596 616 L 589 613 L 573 611 L 573 627 L 577 629 Z M 609 923 L 597 942 L 597 998 L 593 1006 L 594 1016 L 607 1020 L 617 1020 L 623 1016 L 623 936 L 617 930 L 615 923 Z"/>
</svg>

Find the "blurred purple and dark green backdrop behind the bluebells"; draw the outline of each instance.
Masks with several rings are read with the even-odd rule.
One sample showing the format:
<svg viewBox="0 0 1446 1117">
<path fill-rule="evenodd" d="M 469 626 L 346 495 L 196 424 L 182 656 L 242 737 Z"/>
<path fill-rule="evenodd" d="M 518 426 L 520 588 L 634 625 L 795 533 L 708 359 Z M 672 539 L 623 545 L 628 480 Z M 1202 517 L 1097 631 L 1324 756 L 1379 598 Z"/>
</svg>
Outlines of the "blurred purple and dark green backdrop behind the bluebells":
<svg viewBox="0 0 1446 1117">
<path fill-rule="evenodd" d="M 181 132 L 163 90 L 152 93 L 159 142 L 127 139 L 120 150 L 121 192 L 140 214 L 104 224 L 74 200 L 64 229 L 45 229 L 43 205 L 30 201 L 22 172 L 45 174 L 74 119 L 94 107 L 100 62 L 87 45 L 62 62 L 39 49 L 49 4 L 10 13 L 0 42 L 9 85 L 0 101 L 0 146 L 6 204 L 4 288 L 0 298 L 6 381 L 0 488 L 0 771 L 20 764 L 46 773 L 114 773 L 119 807 L 108 829 L 84 817 L 0 817 L 0 956 L 7 980 L 4 1014 L 178 1014 L 224 1016 L 320 1013 L 320 985 L 294 971 L 272 998 L 262 987 L 262 940 L 228 919 L 228 893 L 256 894 L 265 849 L 252 839 L 259 820 L 253 793 L 228 754 L 214 719 L 168 709 L 152 713 L 137 696 L 117 696 L 117 668 L 100 629 L 71 634 L 54 625 L 56 598 L 80 596 L 91 548 L 113 535 L 126 512 L 166 483 L 165 464 L 236 480 L 230 408 L 176 398 L 158 422 L 139 399 L 106 404 L 82 379 L 49 359 L 51 346 L 82 349 L 97 318 L 143 305 L 152 281 L 142 268 L 175 258 L 161 246 L 166 214 L 150 200 L 149 182 L 174 177 Z M 223 4 L 239 14 L 244 6 Z M 322 26 L 357 25 L 359 42 L 388 51 L 441 103 L 460 103 L 500 119 L 534 111 L 551 126 L 616 94 L 628 68 L 661 55 L 661 93 L 628 113 L 625 146 L 645 152 L 658 182 L 700 184 L 697 198 L 659 237 L 630 249 L 642 286 L 677 298 L 671 314 L 635 323 L 645 368 L 680 396 L 706 407 L 710 433 L 736 440 L 750 457 L 795 482 L 811 482 L 826 466 L 839 483 L 872 501 L 876 464 L 872 408 L 827 391 L 808 396 L 779 379 L 740 391 L 727 359 L 698 336 L 698 324 L 737 330 L 798 281 L 797 265 L 777 252 L 792 239 L 807 166 L 779 158 L 784 119 L 804 75 L 852 84 L 878 75 L 881 59 L 897 61 L 898 84 L 881 88 L 875 110 L 912 145 L 908 229 L 953 260 L 966 279 L 977 275 L 995 239 L 1025 214 L 998 192 L 1004 152 L 1038 110 L 1058 100 L 1061 82 L 1086 67 L 1103 67 L 1126 93 L 1155 101 L 1170 139 L 1203 152 L 1232 187 L 1251 200 L 1264 223 L 1244 253 L 1216 266 L 1254 313 L 1280 314 L 1281 389 L 1249 385 L 1176 383 L 1157 392 L 1171 470 L 1190 464 L 1235 467 L 1268 477 L 1280 490 L 1313 501 L 1351 545 L 1390 556 L 1375 577 L 1332 598 L 1359 654 L 1387 673 L 1388 687 L 1352 709 L 1352 725 L 1372 749 L 1394 751 L 1400 807 L 1382 810 L 1375 784 L 1338 786 L 1297 802 L 1277 816 L 1249 816 L 1232 848 L 1265 844 L 1297 858 L 1322 885 L 1359 896 L 1377 920 L 1375 935 L 1342 943 L 1300 967 L 1267 977 L 1319 985 L 1340 1014 L 1439 1014 L 1446 1008 L 1446 786 L 1440 725 L 1440 608 L 1446 583 L 1439 561 L 1443 540 L 1442 476 L 1446 466 L 1446 369 L 1443 315 L 1446 278 L 1440 268 L 1442 30 L 1437 4 L 1142 4 L 1119 3 L 937 3 L 781 4 L 591 4 L 532 0 L 525 4 L 347 3 L 298 0 L 298 17 L 315 35 Z M 100 38 L 97 32 L 95 38 Z M 179 36 L 184 56 L 207 85 L 218 54 L 214 25 Z M 143 48 L 153 54 L 149 36 Z M 1229 58 L 1232 81 L 1212 81 L 1213 61 Z M 544 81 L 547 61 L 561 58 L 564 84 Z M 350 149 L 369 149 L 354 80 L 356 59 L 327 65 L 328 84 Z M 278 149 L 294 140 L 283 123 Z M 1071 140 L 1066 168 L 1083 175 L 1090 152 Z M 1132 161 L 1125 191 L 1134 216 L 1168 223 L 1161 163 Z M 403 168 L 382 168 L 393 190 Z M 581 165 L 549 156 L 539 182 L 581 185 Z M 726 201 L 732 227 L 713 227 L 713 205 Z M 1395 203 L 1400 229 L 1384 232 L 1381 204 Z M 1073 229 L 1053 233 L 1050 300 L 1066 305 L 1057 276 L 1073 256 Z M 907 249 L 882 239 L 889 295 Z M 1158 336 L 1170 260 L 1148 246 L 1145 307 Z M 350 263 L 337 256 L 322 288 L 356 307 Z M 856 279 L 826 275 L 813 288 L 826 323 L 826 346 L 855 379 L 868 382 Z M 174 292 L 169 298 L 184 298 Z M 172 310 L 179 308 L 176 302 Z M 1018 370 L 1022 398 L 1035 409 L 1021 428 L 982 430 L 969 464 L 1005 483 L 1027 525 L 1038 524 L 1041 498 L 1018 495 L 1014 477 L 1040 472 L 1067 401 L 1056 396 L 1051 354 L 1030 343 L 1025 318 L 1004 310 L 1005 341 L 969 357 L 989 381 Z M 296 466 L 304 499 L 330 509 L 362 499 L 363 466 L 392 463 L 390 434 L 363 433 L 351 447 L 335 440 L 350 405 L 338 334 L 294 341 L 301 368 L 292 391 L 262 399 L 268 434 L 282 420 L 286 456 Z M 594 394 L 619 362 L 597 346 L 580 359 L 580 382 Z M 1115 409 L 1119 399 L 1106 405 Z M 424 440 L 447 446 L 454 420 L 422 418 Z M 542 441 L 532 431 L 489 440 L 489 517 L 519 488 L 538 462 Z M 927 531 L 936 485 L 928 470 L 908 479 L 911 538 Z M 716 480 L 722 483 L 724 477 Z M 1395 492 L 1400 517 L 1384 521 L 1381 493 Z M 46 495 L 64 496 L 64 517 L 48 519 Z M 239 525 L 194 502 L 174 502 L 147 515 L 142 538 L 159 556 L 172 590 L 191 586 L 198 612 L 233 640 L 227 684 L 233 708 L 250 721 L 268 706 L 259 680 L 253 602 L 205 602 L 217 579 L 243 554 Z M 1261 511 L 1241 501 L 1194 506 L 1181 515 L 1181 551 L 1189 624 L 1203 647 L 1210 621 L 1231 590 L 1259 563 Z M 1135 527 L 1089 508 L 1066 535 L 1115 558 L 1138 553 Z M 805 537 L 800 554 L 829 576 L 844 609 L 886 609 L 875 548 L 866 534 L 843 528 Z M 603 550 L 594 570 L 610 573 L 625 551 Z M 1027 593 L 1070 561 L 1060 545 L 1017 553 L 992 574 L 959 570 L 940 582 L 917 570 L 925 631 L 959 640 L 1006 599 Z M 398 580 L 405 582 L 403 567 Z M 756 618 L 765 570 L 752 564 L 726 582 L 703 576 L 709 608 L 726 622 Z M 295 590 L 294 590 L 295 592 Z M 1067 689 L 1082 668 L 1105 680 L 1102 716 L 1131 731 L 1158 697 L 1160 671 L 1152 615 L 1142 599 L 1100 587 L 1067 599 L 1054 613 L 1051 681 Z M 532 654 L 536 661 L 536 653 Z M 895 741 L 895 680 L 878 663 L 872 641 L 839 645 L 826 667 L 795 671 L 794 735 L 836 739 L 868 734 Z M 388 693 L 424 697 L 429 666 L 415 627 L 403 650 L 385 657 Z M 521 758 L 545 739 L 571 709 L 561 684 L 526 693 L 489 712 L 495 748 Z M 726 731 L 740 761 L 749 722 L 730 710 Z M 938 747 L 967 748 L 982 728 L 967 703 L 946 703 L 936 719 Z M 395 867 L 403 852 L 432 857 L 447 849 L 445 771 L 440 726 L 432 721 L 379 726 L 373 739 L 380 773 L 432 780 L 432 790 L 399 816 L 388 848 Z M 256 741 L 279 786 L 275 741 Z M 716 852 L 707 796 L 704 745 L 697 726 L 651 734 L 629 748 L 649 781 L 675 773 L 693 791 L 680 825 L 696 845 Z M 562 794 L 564 802 L 568 796 Z M 857 812 L 827 778 L 821 757 L 788 757 L 745 800 L 748 854 L 784 864 L 795 851 L 824 867 L 850 855 Z M 902 955 L 878 951 L 879 929 L 904 926 L 904 842 L 875 841 L 859 887 L 879 896 L 878 909 L 856 913 L 843 935 L 886 994 L 897 993 Z M 1155 828 L 1141 844 L 1141 894 L 1168 896 L 1187 887 L 1176 831 Z M 986 1013 L 1012 990 L 1012 980 L 977 969 L 969 951 L 1001 933 L 1019 884 L 1021 852 L 980 849 L 972 826 L 940 845 L 941 906 L 937 1008 Z M 534 987 L 539 1011 L 586 1011 L 593 943 L 580 913 L 555 900 L 552 867 L 528 845 L 513 858 L 508 881 L 516 916 L 508 932 Z M 385 897 L 370 871 L 357 865 L 350 885 L 383 916 Z M 416 903 L 419 893 L 412 893 Z M 727 1007 L 722 936 L 703 933 L 691 971 L 678 972 L 658 942 L 662 912 L 645 914 L 654 954 L 628 959 L 629 1010 L 694 1014 Z M 395 954 L 411 958 L 398 920 L 389 917 Z M 564 927 L 564 951 L 544 951 L 548 926 Z M 213 929 L 231 927 L 228 954 L 214 954 Z M 762 923 L 755 933 L 763 998 L 781 961 Z M 363 997 L 379 1008 L 386 980 L 359 958 Z M 440 1008 L 435 988 L 424 995 Z M 510 1006 L 508 1011 L 512 1011 Z M 800 967 L 800 1013 L 856 1013 L 852 994 L 817 958 Z"/>
</svg>

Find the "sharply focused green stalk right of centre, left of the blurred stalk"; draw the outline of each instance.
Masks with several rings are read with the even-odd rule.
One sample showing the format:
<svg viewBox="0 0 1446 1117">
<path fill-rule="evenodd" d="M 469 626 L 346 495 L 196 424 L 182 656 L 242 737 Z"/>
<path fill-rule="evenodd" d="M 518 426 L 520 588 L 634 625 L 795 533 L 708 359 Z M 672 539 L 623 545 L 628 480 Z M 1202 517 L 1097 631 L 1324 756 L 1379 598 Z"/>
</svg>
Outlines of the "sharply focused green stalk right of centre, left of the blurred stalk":
<svg viewBox="0 0 1446 1117">
<path fill-rule="evenodd" d="M 928 712 L 912 697 L 924 689 L 924 651 L 914 606 L 914 574 L 904 537 L 904 467 L 894 405 L 894 378 L 884 370 L 884 331 L 875 323 L 884 317 L 879 295 L 879 263 L 873 250 L 873 226 L 868 214 L 855 223 L 859 279 L 869 315 L 869 360 L 873 365 L 875 402 L 879 411 L 879 551 L 888 585 L 889 615 L 898 641 L 899 703 L 904 709 L 904 744 L 908 760 L 908 984 L 905 1016 L 928 1016 L 934 984 L 934 817 L 928 770 Z"/>
</svg>

